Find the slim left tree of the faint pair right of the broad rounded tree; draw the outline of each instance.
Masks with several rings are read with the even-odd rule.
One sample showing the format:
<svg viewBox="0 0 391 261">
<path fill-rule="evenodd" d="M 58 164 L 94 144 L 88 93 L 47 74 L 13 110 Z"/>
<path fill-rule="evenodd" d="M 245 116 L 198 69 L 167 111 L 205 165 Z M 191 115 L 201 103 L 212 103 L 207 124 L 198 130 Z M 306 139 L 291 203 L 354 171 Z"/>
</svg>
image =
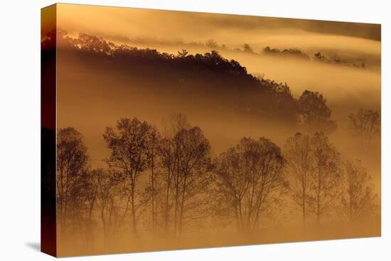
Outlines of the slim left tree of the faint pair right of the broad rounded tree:
<svg viewBox="0 0 391 261">
<path fill-rule="evenodd" d="M 314 157 L 311 153 L 308 135 L 296 133 L 294 137 L 286 140 L 284 157 L 291 172 L 289 187 L 294 202 L 301 208 L 304 226 L 308 212 L 306 204 L 311 188 L 311 174 L 314 171 Z"/>
</svg>

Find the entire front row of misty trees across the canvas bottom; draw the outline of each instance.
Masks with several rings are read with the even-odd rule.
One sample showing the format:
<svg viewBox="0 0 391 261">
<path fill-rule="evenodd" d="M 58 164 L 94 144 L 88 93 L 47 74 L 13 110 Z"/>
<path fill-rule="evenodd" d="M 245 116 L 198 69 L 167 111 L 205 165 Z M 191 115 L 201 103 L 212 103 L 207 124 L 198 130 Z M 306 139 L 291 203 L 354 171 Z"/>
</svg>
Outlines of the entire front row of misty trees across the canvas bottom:
<svg viewBox="0 0 391 261">
<path fill-rule="evenodd" d="M 58 130 L 58 233 L 84 247 L 99 236 L 105 244 L 117 236 L 179 238 L 213 220 L 260 233 L 267 220 L 289 213 L 289 198 L 304 225 L 358 220 L 376 210 L 364 167 L 342 164 L 323 132 L 296 133 L 284 151 L 264 137 L 246 137 L 214 160 L 202 129 L 183 114 L 169 117 L 162 134 L 123 118 L 103 137 L 107 168 L 91 169 L 82 135 Z"/>
</svg>

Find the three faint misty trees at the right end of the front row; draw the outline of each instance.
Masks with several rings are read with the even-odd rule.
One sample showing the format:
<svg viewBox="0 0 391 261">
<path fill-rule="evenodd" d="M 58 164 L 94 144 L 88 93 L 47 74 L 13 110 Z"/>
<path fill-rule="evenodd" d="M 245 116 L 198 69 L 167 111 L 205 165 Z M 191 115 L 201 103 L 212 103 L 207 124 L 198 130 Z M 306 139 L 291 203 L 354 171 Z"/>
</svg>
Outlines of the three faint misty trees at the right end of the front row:
<svg viewBox="0 0 391 261">
<path fill-rule="evenodd" d="M 333 215 L 354 221 L 375 213 L 375 186 L 361 161 L 342 161 L 322 132 L 289 137 L 284 157 L 290 194 L 299 206 L 304 225 L 312 217 L 316 223 Z"/>
</svg>

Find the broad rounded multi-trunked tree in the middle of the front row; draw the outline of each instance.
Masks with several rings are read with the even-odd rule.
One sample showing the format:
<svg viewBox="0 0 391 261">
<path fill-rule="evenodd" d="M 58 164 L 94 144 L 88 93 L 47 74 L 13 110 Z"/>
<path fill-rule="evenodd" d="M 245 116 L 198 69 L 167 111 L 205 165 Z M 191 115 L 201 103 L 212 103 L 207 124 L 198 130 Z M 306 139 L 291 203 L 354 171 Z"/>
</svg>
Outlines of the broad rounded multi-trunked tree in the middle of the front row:
<svg viewBox="0 0 391 261">
<path fill-rule="evenodd" d="M 259 228 L 259 219 L 278 206 L 286 192 L 284 159 L 269 139 L 243 138 L 216 161 L 218 191 L 223 193 L 240 231 Z"/>
</svg>

